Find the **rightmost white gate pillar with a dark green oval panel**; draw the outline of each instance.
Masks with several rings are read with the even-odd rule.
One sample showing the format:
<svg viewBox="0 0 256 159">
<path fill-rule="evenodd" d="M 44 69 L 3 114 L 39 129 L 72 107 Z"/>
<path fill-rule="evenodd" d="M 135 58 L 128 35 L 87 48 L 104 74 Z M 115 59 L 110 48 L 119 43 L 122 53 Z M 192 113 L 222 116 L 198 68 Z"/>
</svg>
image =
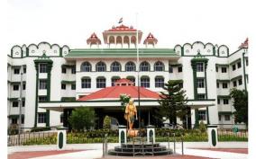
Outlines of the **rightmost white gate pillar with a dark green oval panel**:
<svg viewBox="0 0 256 159">
<path fill-rule="evenodd" d="M 217 126 L 208 125 L 207 126 L 208 133 L 208 144 L 210 148 L 215 148 L 218 145 L 218 131 Z"/>
</svg>

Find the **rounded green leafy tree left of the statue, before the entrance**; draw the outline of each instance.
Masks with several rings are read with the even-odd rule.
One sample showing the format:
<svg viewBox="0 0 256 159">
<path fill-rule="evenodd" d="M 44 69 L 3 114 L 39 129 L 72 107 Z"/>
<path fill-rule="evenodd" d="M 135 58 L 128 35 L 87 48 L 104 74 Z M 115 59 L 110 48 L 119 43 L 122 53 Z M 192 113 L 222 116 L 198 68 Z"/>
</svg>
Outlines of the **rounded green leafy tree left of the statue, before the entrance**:
<svg viewBox="0 0 256 159">
<path fill-rule="evenodd" d="M 95 124 L 95 110 L 87 107 L 79 107 L 72 111 L 69 118 L 69 123 L 73 129 L 78 132 L 83 132 L 84 129 L 89 129 Z"/>
</svg>

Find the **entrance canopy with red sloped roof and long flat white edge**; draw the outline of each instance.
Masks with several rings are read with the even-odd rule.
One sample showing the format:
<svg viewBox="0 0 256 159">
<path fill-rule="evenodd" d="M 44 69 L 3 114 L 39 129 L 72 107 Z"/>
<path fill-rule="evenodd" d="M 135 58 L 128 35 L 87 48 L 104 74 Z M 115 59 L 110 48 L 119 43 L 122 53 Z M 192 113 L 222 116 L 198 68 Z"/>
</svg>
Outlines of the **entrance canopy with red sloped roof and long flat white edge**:
<svg viewBox="0 0 256 159">
<path fill-rule="evenodd" d="M 133 82 L 127 79 L 120 79 L 114 86 L 106 87 L 95 93 L 83 96 L 75 102 L 40 102 L 39 107 L 46 110 L 63 111 L 64 109 L 75 109 L 78 107 L 105 108 L 108 110 L 122 109 L 120 95 L 129 95 L 134 100 L 135 105 L 138 102 L 138 89 L 140 89 L 140 105 L 142 108 L 159 106 L 160 93 L 152 92 L 144 87 L 134 86 Z M 214 106 L 215 100 L 188 100 L 187 105 L 191 109 L 206 108 Z"/>
</svg>

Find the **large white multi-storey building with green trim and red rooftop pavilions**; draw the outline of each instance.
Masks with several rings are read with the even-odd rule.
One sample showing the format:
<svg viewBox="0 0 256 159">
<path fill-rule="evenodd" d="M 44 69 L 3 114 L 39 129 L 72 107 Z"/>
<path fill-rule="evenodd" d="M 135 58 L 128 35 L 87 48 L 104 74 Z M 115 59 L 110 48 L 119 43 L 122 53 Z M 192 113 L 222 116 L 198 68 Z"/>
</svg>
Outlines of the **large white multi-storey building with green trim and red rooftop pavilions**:
<svg viewBox="0 0 256 159">
<path fill-rule="evenodd" d="M 127 78 L 137 85 L 136 37 L 137 30 L 122 24 L 103 32 L 105 46 L 95 33 L 87 40 L 87 49 L 69 49 L 48 42 L 15 45 L 7 65 L 9 126 L 19 123 L 20 89 L 23 128 L 33 128 L 62 125 L 62 111 L 68 118 L 73 108 L 83 104 L 74 102 L 76 99 L 112 86 L 117 79 Z M 141 43 L 142 31 L 138 31 L 138 38 Z M 201 41 L 173 49 L 159 49 L 157 42 L 150 33 L 140 45 L 141 85 L 160 93 L 163 83 L 181 79 L 191 106 L 192 127 L 198 113 L 198 120 L 207 123 L 208 118 L 208 123 L 219 128 L 232 128 L 234 109 L 229 93 L 233 87 L 247 89 L 247 41 L 233 53 L 225 45 Z M 117 106 L 117 102 L 107 104 Z"/>
</svg>

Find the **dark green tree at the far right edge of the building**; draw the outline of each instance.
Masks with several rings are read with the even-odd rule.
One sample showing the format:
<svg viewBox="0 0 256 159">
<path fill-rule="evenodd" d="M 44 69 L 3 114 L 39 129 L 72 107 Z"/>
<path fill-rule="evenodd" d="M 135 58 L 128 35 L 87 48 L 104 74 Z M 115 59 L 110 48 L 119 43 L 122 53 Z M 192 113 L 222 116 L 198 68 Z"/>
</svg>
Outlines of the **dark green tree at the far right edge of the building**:
<svg viewBox="0 0 256 159">
<path fill-rule="evenodd" d="M 248 126 L 248 92 L 232 89 L 230 96 L 233 98 L 233 108 L 235 109 L 233 112 L 234 122 L 244 122 Z"/>
</svg>

